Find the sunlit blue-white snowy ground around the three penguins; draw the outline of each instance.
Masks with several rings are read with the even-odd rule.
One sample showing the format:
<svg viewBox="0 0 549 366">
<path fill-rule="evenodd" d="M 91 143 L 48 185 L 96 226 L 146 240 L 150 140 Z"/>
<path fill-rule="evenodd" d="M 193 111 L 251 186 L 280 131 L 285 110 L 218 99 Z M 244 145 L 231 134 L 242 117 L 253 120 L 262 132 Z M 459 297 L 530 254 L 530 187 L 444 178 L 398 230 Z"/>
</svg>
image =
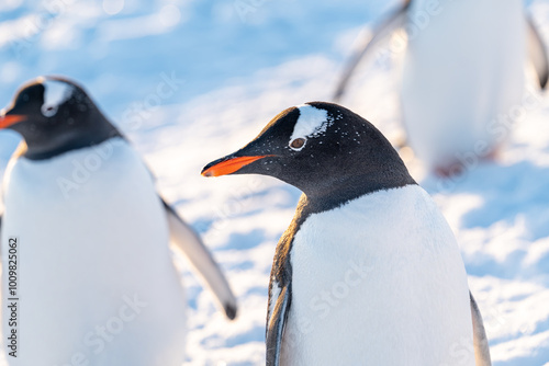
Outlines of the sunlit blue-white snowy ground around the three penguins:
<svg viewBox="0 0 549 366">
<path fill-rule="evenodd" d="M 40 75 L 76 79 L 128 136 L 158 187 L 204 237 L 240 302 L 229 322 L 189 271 L 187 365 L 261 365 L 274 245 L 300 192 L 265 176 L 204 179 L 280 111 L 329 100 L 361 24 L 396 1 L 7 0 L 0 2 L 0 105 Z M 535 11 L 549 39 L 549 2 Z M 346 106 L 390 139 L 400 47 L 365 62 Z M 359 82 L 361 81 L 361 82 Z M 549 365 L 549 101 L 531 94 L 498 163 L 427 176 L 460 243 L 495 365 Z M 0 165 L 18 137 L 0 133 Z M 406 152 L 406 151 L 404 151 Z M 3 347 L 2 347 L 3 350 Z"/>
</svg>

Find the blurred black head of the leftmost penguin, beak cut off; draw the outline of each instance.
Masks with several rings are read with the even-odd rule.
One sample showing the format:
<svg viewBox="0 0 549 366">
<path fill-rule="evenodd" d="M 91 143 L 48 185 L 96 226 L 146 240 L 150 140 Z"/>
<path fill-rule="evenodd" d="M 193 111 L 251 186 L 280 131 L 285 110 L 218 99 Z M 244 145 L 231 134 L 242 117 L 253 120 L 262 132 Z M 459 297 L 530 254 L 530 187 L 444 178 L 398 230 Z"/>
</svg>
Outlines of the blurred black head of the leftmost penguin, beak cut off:
<svg viewBox="0 0 549 366">
<path fill-rule="evenodd" d="M 60 77 L 24 84 L 0 113 L 0 128 L 19 133 L 31 159 L 99 144 L 117 134 L 83 89 Z"/>
</svg>

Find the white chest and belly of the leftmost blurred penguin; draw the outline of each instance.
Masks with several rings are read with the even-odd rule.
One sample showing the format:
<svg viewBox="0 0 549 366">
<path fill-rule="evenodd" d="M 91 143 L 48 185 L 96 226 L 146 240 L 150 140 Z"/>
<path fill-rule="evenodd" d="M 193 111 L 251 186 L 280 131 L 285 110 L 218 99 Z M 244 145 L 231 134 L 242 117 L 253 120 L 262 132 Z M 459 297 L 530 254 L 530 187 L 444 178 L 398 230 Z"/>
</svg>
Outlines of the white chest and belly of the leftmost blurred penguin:
<svg viewBox="0 0 549 366">
<path fill-rule="evenodd" d="M 24 350 L 10 365 L 70 365 L 77 354 L 89 365 L 180 364 L 184 296 L 166 216 L 126 142 L 12 161 L 3 195 L 2 252 L 9 237 L 20 243 Z"/>
</svg>

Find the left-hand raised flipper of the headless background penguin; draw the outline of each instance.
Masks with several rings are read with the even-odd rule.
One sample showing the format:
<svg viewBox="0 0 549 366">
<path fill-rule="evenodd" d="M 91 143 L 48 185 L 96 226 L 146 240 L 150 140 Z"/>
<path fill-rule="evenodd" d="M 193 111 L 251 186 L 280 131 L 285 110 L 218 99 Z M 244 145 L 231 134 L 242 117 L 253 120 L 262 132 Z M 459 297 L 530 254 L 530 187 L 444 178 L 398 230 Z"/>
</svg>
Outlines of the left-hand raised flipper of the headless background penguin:
<svg viewBox="0 0 549 366">
<path fill-rule="evenodd" d="M 349 57 L 347 65 L 345 66 L 341 79 L 337 84 L 336 92 L 334 93 L 334 101 L 337 103 L 341 100 L 345 94 L 345 89 L 350 80 L 350 77 L 355 72 L 355 69 L 360 64 L 362 57 L 368 54 L 368 52 L 374 48 L 379 42 L 384 39 L 389 34 L 393 33 L 396 28 L 404 25 L 406 21 L 407 10 L 410 8 L 411 0 L 404 0 L 402 5 L 396 9 L 390 16 L 373 25 L 372 32 L 362 32 L 362 38 L 357 42 L 357 47 L 354 54 Z"/>
</svg>

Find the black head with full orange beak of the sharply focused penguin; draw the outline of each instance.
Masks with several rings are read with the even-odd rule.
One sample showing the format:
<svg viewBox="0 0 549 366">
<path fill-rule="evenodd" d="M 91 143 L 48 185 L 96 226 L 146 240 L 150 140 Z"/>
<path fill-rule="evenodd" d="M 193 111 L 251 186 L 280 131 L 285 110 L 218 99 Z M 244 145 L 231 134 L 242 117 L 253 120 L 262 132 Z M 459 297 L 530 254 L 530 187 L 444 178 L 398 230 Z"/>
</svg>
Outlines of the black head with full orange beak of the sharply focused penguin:
<svg viewBox="0 0 549 366">
<path fill-rule="evenodd" d="M 204 176 L 249 173 L 274 176 L 307 196 L 338 190 L 359 195 L 415 183 L 372 124 L 324 102 L 283 111 L 244 148 L 202 170 Z"/>
</svg>

